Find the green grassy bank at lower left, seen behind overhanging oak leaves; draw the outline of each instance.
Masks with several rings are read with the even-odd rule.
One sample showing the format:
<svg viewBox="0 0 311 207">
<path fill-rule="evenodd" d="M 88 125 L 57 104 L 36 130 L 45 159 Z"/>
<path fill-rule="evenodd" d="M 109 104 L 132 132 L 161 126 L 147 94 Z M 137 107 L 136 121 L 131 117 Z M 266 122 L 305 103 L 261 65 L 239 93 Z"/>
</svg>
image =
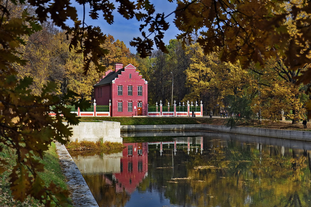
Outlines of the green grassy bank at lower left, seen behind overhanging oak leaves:
<svg viewBox="0 0 311 207">
<path fill-rule="evenodd" d="M 0 206 L 3 207 L 35 207 L 35 206 L 44 206 L 40 205 L 37 200 L 34 200 L 30 197 L 26 198 L 26 200 L 21 203 L 20 201 L 16 201 L 13 199 L 10 190 L 9 183 L 9 174 L 12 172 L 12 166 L 15 165 L 15 156 L 12 155 L 13 152 L 10 149 L 4 149 L 0 156 L 5 158 L 9 165 L 6 166 L 8 169 L 6 172 L 0 174 Z M 44 172 L 41 172 L 39 175 L 44 180 L 45 183 L 49 184 L 50 181 L 53 181 L 55 184 L 67 189 L 67 185 L 65 182 L 65 177 L 61 172 L 61 168 L 58 163 L 58 156 L 55 149 L 55 144 L 52 143 L 50 149 L 45 153 L 44 158 L 42 160 L 44 163 Z"/>
</svg>

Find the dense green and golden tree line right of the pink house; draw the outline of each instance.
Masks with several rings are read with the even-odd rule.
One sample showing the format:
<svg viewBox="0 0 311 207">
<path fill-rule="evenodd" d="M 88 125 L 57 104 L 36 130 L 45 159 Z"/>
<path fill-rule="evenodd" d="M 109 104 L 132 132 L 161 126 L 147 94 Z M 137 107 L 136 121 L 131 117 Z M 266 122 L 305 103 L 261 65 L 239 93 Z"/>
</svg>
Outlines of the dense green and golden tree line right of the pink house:
<svg viewBox="0 0 311 207">
<path fill-rule="evenodd" d="M 228 110 L 254 119 L 261 111 L 262 117 L 277 120 L 283 110 L 293 123 L 305 117 L 308 86 L 295 84 L 305 68 L 292 71 L 281 59 L 274 58 L 268 59 L 264 67 L 251 63 L 241 68 L 239 62 L 220 61 L 217 52 L 204 54 L 197 43 L 181 45 L 178 40 L 170 40 L 166 45 L 169 53 L 154 50 L 148 64 L 142 63 L 148 68 L 145 74 L 150 105 L 160 100 L 170 102 L 173 74 L 173 100 L 202 100 L 206 114 Z"/>
</svg>

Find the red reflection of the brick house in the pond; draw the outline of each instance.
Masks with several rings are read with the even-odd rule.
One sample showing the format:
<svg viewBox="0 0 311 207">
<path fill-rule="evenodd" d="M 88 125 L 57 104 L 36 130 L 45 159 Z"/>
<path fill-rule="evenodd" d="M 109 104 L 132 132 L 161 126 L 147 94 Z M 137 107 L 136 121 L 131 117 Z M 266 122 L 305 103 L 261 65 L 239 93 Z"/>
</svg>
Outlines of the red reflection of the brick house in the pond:
<svg viewBox="0 0 311 207">
<path fill-rule="evenodd" d="M 120 173 L 114 173 L 116 191 L 135 191 L 148 173 L 148 143 L 123 143 L 123 156 L 120 160 Z"/>
</svg>

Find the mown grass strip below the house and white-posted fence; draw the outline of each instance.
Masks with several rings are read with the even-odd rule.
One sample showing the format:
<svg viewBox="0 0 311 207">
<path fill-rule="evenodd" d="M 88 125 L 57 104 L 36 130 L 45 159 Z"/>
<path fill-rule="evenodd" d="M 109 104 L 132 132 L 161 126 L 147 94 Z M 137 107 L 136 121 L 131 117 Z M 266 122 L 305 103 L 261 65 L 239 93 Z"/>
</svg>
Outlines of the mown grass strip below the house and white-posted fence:
<svg viewBox="0 0 311 207">
<path fill-rule="evenodd" d="M 121 125 L 212 124 L 209 118 L 194 117 L 81 117 L 81 121 L 116 121 Z"/>
</svg>

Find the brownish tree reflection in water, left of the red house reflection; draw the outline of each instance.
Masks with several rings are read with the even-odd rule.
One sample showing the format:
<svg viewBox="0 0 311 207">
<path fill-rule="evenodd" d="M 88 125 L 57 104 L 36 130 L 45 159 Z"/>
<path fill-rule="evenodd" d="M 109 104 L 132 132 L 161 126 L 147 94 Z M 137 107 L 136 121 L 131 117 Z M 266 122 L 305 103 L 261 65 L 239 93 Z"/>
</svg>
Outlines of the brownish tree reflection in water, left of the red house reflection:
<svg viewBox="0 0 311 207">
<path fill-rule="evenodd" d="M 111 176 L 111 175 L 110 175 Z M 124 206 L 130 195 L 123 192 L 116 193 L 116 183 L 109 175 L 83 175 L 86 183 L 91 183 L 92 194 L 100 207 Z"/>
</svg>

